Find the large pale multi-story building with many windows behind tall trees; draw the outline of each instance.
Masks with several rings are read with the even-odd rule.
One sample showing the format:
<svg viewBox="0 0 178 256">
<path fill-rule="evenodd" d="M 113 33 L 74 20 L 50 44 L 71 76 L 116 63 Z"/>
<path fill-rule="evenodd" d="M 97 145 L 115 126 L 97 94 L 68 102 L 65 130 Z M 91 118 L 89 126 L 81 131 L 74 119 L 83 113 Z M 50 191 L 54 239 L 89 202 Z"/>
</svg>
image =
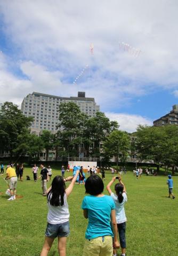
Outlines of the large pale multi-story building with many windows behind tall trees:
<svg viewBox="0 0 178 256">
<path fill-rule="evenodd" d="M 59 105 L 61 102 L 75 102 L 80 110 L 90 117 L 95 116 L 100 107 L 94 98 L 86 98 L 85 92 L 78 92 L 78 97 L 59 97 L 44 93 L 33 92 L 25 97 L 21 104 L 21 111 L 25 116 L 33 116 L 31 132 L 38 134 L 42 130 L 56 132 L 59 123 Z"/>
</svg>

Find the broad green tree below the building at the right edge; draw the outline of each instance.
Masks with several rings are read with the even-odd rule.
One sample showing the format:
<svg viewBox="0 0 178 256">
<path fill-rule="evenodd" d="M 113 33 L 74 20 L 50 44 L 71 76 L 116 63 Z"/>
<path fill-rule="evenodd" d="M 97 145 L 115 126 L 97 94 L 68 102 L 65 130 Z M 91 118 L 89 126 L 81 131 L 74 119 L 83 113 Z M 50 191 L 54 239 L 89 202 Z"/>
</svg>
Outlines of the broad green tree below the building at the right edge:
<svg viewBox="0 0 178 256">
<path fill-rule="evenodd" d="M 137 128 L 135 135 L 135 150 L 141 160 L 152 159 L 154 163 L 168 168 L 176 165 L 178 157 L 178 127 L 142 126 Z"/>
</svg>

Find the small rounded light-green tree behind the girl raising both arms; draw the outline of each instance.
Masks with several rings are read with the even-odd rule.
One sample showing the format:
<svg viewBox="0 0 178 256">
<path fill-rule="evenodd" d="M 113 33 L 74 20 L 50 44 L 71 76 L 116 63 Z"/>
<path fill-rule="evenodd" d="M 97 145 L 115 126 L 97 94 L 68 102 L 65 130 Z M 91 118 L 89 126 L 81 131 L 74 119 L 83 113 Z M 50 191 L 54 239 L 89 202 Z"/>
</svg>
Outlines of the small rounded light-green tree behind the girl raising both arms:
<svg viewBox="0 0 178 256">
<path fill-rule="evenodd" d="M 106 156 L 116 158 L 117 170 L 118 162 L 126 162 L 127 156 L 130 152 L 131 138 L 127 132 L 112 131 L 106 141 L 104 141 L 103 149 Z"/>
</svg>

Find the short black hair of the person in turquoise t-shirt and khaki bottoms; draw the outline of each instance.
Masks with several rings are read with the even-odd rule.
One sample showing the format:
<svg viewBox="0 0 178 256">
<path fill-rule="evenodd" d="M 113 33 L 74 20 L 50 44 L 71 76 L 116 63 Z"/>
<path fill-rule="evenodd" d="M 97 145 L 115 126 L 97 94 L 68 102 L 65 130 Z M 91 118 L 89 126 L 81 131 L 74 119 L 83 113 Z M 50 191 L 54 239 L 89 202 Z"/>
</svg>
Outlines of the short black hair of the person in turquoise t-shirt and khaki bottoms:
<svg viewBox="0 0 178 256">
<path fill-rule="evenodd" d="M 85 182 L 85 193 L 92 196 L 99 195 L 104 190 L 104 183 L 102 179 L 94 174 L 86 179 Z"/>
</svg>

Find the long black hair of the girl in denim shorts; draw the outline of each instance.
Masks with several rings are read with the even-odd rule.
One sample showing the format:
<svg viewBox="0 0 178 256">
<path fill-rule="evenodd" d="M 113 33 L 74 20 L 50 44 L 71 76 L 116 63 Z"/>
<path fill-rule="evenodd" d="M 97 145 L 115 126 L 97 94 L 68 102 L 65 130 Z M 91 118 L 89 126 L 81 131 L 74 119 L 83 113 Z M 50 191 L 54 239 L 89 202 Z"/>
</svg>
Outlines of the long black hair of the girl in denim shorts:
<svg viewBox="0 0 178 256">
<path fill-rule="evenodd" d="M 62 206 L 64 204 L 64 194 L 66 193 L 66 184 L 61 176 L 55 176 L 51 190 L 47 193 L 47 202 L 50 202 L 53 206 Z"/>
</svg>

